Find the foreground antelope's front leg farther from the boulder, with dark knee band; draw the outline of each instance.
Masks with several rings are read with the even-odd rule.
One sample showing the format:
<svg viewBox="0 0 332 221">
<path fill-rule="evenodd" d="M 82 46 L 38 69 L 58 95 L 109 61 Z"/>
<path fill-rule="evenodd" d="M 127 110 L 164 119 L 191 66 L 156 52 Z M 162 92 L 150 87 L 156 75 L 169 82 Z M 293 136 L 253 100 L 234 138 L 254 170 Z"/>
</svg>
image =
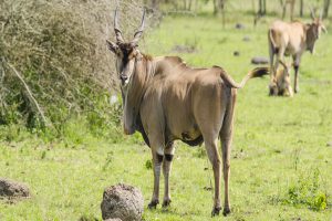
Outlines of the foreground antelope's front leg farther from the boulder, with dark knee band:
<svg viewBox="0 0 332 221">
<path fill-rule="evenodd" d="M 169 173 L 172 169 L 172 160 L 174 156 L 174 145 L 173 143 L 166 146 L 164 150 L 164 161 L 163 161 L 163 172 L 165 179 L 165 193 L 164 193 L 164 201 L 163 207 L 168 207 L 172 202 L 170 194 L 169 194 Z"/>
</svg>

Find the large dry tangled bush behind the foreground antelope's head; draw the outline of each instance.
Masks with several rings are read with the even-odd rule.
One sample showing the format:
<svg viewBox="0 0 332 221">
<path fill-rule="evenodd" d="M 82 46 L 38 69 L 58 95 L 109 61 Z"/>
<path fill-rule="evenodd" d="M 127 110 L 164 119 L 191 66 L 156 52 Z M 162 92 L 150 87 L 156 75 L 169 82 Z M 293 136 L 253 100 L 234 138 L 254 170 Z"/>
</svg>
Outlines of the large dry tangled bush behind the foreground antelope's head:
<svg viewBox="0 0 332 221">
<path fill-rule="evenodd" d="M 0 125 L 62 136 L 80 118 L 95 135 L 120 130 L 121 105 L 110 103 L 117 91 L 114 57 L 105 44 L 114 36 L 115 7 L 110 0 L 0 1 Z M 132 35 L 142 3 L 124 0 L 120 9 L 123 34 Z"/>
</svg>

